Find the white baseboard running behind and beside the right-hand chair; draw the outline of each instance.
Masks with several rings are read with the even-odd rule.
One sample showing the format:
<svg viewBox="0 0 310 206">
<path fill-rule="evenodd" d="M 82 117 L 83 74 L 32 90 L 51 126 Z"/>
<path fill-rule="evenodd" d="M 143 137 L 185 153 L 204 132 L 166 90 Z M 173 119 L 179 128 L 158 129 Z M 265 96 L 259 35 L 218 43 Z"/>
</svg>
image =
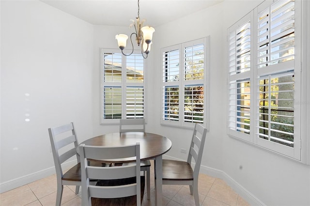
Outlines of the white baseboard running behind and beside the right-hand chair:
<svg viewBox="0 0 310 206">
<path fill-rule="evenodd" d="M 181 159 L 177 159 L 168 155 L 163 155 L 163 159 L 168 160 L 178 160 L 184 161 Z M 236 191 L 243 199 L 245 199 L 251 206 L 265 206 L 262 201 L 260 201 L 255 195 L 245 189 L 242 185 L 240 185 L 237 181 L 235 181 L 232 177 L 227 175 L 225 172 L 201 165 L 200 172 L 202 174 L 206 174 L 212 177 L 217 177 L 223 179 L 234 191 Z"/>
</svg>

